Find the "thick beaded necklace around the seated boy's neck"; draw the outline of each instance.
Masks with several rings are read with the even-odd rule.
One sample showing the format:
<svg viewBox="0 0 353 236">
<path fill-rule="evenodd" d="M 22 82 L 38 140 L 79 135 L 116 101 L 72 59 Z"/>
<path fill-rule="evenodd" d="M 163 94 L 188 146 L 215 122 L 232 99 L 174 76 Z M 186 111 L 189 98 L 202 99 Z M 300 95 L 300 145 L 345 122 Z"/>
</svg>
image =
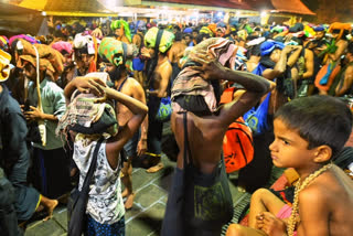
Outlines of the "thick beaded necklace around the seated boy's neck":
<svg viewBox="0 0 353 236">
<path fill-rule="evenodd" d="M 331 168 L 332 164 L 329 163 L 327 165 L 323 165 L 321 169 L 317 170 L 315 172 L 311 173 L 309 176 L 307 176 L 304 179 L 304 181 L 302 182 L 302 184 L 300 183 L 301 180 L 299 178 L 298 183 L 296 184 L 296 190 L 295 190 L 295 201 L 293 201 L 293 205 L 292 205 L 292 211 L 291 211 L 291 215 L 289 217 L 289 222 L 288 222 L 288 226 L 287 226 L 287 232 L 289 236 L 293 236 L 295 235 L 295 229 L 296 229 L 296 225 L 299 222 L 298 221 L 298 210 L 299 210 L 299 193 L 300 191 L 302 191 L 304 187 L 309 186 L 311 184 L 311 182 L 319 176 L 322 172 L 327 171 L 329 168 Z"/>
</svg>

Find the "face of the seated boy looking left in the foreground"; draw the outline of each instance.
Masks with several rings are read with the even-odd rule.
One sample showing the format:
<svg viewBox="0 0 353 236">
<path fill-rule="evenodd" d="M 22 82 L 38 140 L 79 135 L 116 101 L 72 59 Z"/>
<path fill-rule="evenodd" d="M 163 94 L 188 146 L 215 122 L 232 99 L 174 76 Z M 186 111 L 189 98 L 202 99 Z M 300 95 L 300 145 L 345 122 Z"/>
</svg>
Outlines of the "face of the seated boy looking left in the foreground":
<svg viewBox="0 0 353 236">
<path fill-rule="evenodd" d="M 306 169 L 311 167 L 317 149 L 308 150 L 309 143 L 298 131 L 289 129 L 280 118 L 274 121 L 275 141 L 269 146 L 272 162 L 278 168 Z"/>
</svg>

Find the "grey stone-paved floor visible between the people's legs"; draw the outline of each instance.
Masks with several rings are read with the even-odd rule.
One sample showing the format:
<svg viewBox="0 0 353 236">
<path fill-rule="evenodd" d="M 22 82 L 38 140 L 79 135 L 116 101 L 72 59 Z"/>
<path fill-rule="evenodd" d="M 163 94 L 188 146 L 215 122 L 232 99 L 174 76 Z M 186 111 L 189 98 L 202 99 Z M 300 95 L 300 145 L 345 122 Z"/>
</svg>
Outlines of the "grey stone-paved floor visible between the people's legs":
<svg viewBox="0 0 353 236">
<path fill-rule="evenodd" d="M 168 126 L 164 127 L 163 136 L 170 133 Z M 132 187 L 136 192 L 133 207 L 126 212 L 127 236 L 158 236 L 160 235 L 161 222 L 164 215 L 168 191 L 171 184 L 175 162 L 165 155 L 162 158 L 164 169 L 157 173 L 147 173 L 145 169 L 135 168 L 132 172 Z M 271 182 L 279 176 L 281 171 L 275 170 Z M 236 179 L 232 174 L 229 179 Z M 248 204 L 250 194 L 239 191 L 229 181 L 234 201 L 235 215 L 232 222 L 236 222 L 242 210 Z M 54 216 L 47 222 L 34 221 L 28 224 L 25 236 L 65 236 L 67 228 L 67 212 L 65 205 L 58 205 Z M 223 233 L 225 233 L 226 226 Z"/>
</svg>

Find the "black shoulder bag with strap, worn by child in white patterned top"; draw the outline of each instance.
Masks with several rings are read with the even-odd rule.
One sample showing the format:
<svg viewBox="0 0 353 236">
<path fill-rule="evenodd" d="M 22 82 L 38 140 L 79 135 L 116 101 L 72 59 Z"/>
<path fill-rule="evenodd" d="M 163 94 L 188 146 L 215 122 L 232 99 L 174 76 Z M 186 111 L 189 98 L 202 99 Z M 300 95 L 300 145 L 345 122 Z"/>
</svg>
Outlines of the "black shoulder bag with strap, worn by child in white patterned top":
<svg viewBox="0 0 353 236">
<path fill-rule="evenodd" d="M 93 159 L 89 165 L 89 170 L 85 178 L 84 184 L 82 190 L 78 191 L 78 187 L 75 187 L 71 191 L 68 202 L 67 202 L 67 235 L 68 236 L 81 236 L 85 224 L 87 223 L 86 219 L 86 206 L 88 201 L 88 192 L 89 192 L 89 183 L 93 176 L 93 173 L 96 170 L 97 165 L 97 155 L 100 148 L 103 139 L 100 139 L 95 148 L 93 153 Z"/>
</svg>

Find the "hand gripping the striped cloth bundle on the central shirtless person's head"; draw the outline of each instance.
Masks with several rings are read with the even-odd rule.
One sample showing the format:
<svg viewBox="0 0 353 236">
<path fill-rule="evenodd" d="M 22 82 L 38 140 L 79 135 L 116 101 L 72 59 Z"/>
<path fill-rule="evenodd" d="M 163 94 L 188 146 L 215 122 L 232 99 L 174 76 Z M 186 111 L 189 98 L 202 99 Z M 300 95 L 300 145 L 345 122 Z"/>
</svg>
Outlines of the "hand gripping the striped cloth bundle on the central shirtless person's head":
<svg viewBox="0 0 353 236">
<path fill-rule="evenodd" d="M 211 54 L 193 53 L 190 55 L 191 61 L 200 63 L 201 66 L 190 66 L 190 68 L 199 71 L 200 76 L 204 79 L 221 79 L 226 68 Z"/>
</svg>

